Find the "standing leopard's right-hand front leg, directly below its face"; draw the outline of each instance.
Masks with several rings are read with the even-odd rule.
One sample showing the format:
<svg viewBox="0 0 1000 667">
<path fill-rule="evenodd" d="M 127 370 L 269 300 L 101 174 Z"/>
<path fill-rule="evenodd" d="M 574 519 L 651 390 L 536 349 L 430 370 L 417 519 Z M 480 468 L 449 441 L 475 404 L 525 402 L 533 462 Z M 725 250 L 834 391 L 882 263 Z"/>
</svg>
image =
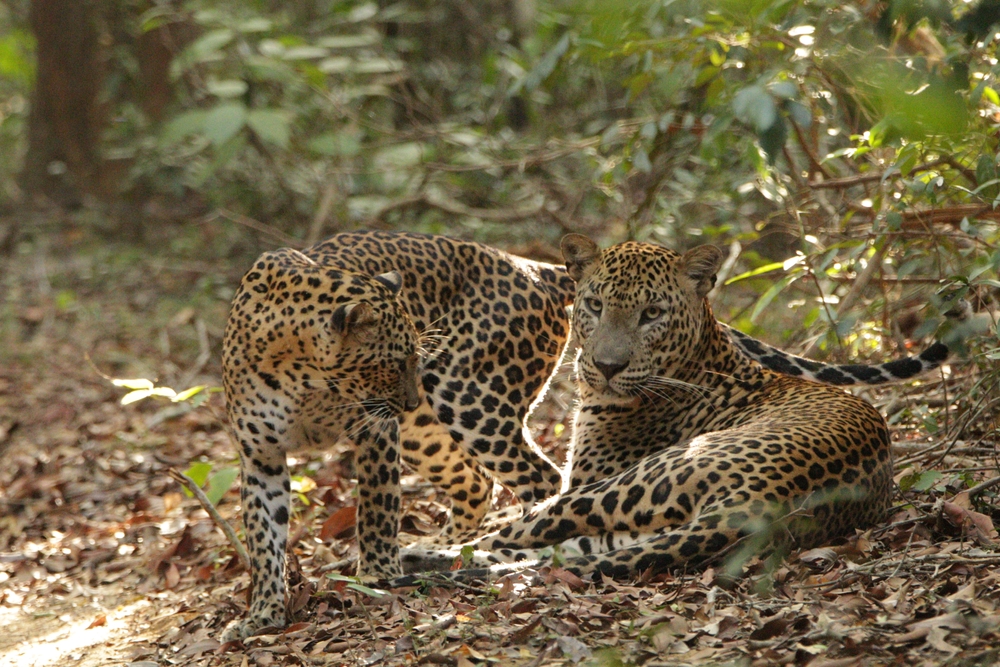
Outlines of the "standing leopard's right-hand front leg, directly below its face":
<svg viewBox="0 0 1000 667">
<path fill-rule="evenodd" d="M 384 419 L 361 429 L 358 453 L 358 576 L 392 579 L 399 566 L 399 421 Z"/>
</svg>

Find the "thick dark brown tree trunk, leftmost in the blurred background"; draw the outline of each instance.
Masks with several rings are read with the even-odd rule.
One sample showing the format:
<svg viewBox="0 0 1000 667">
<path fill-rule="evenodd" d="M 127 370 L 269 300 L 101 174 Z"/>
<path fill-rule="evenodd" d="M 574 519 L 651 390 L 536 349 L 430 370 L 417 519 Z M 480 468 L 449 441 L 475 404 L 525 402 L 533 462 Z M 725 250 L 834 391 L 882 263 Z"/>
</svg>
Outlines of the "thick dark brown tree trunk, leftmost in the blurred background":
<svg viewBox="0 0 1000 667">
<path fill-rule="evenodd" d="M 29 197 L 74 207 L 85 194 L 106 194 L 99 153 L 104 48 L 97 17 L 96 0 L 32 0 L 38 69 L 21 173 Z"/>
</svg>

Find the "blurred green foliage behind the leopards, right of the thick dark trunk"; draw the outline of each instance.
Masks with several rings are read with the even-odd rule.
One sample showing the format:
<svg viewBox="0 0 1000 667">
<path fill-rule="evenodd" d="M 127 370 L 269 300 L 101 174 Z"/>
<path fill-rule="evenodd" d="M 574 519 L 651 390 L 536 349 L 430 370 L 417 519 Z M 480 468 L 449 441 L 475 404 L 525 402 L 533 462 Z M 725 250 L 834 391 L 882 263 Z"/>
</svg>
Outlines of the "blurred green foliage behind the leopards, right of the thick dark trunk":
<svg viewBox="0 0 1000 667">
<path fill-rule="evenodd" d="M 723 319 L 820 351 L 894 345 L 910 311 L 932 335 L 939 291 L 996 304 L 1000 66 L 965 5 L 495 6 L 468 26 L 419 0 L 158 3 L 133 30 L 186 35 L 174 100 L 155 123 L 118 100 L 109 151 L 134 192 L 294 239 L 735 242 Z M 984 367 L 1000 349 L 963 336 Z"/>
</svg>

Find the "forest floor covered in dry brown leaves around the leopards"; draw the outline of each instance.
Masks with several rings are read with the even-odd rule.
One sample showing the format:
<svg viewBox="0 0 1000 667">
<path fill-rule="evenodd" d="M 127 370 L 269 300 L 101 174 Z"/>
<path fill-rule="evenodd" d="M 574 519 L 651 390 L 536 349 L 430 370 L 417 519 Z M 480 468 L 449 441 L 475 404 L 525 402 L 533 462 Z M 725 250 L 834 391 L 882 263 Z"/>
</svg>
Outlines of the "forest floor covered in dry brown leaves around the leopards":
<svg viewBox="0 0 1000 667">
<path fill-rule="evenodd" d="M 976 488 L 997 474 L 996 416 L 965 418 L 975 371 L 961 362 L 865 394 L 894 422 L 900 489 L 885 526 L 776 564 L 751 559 L 736 579 L 718 567 L 637 582 L 545 568 L 459 589 L 359 587 L 338 574 L 350 566 L 323 570 L 356 553 L 350 448 L 304 452 L 292 462 L 295 622 L 220 646 L 248 576 L 168 471 L 211 468 L 228 488 L 222 396 L 123 406 L 111 378 L 217 387 L 228 299 L 256 250 L 207 227 L 155 251 L 86 237 L 38 235 L 0 258 L 5 667 L 1000 661 L 997 489 Z M 556 455 L 565 403 L 533 425 Z M 444 505 L 418 478 L 404 483 L 404 527 L 433 532 Z M 237 486 L 219 503 L 234 523 Z"/>
</svg>

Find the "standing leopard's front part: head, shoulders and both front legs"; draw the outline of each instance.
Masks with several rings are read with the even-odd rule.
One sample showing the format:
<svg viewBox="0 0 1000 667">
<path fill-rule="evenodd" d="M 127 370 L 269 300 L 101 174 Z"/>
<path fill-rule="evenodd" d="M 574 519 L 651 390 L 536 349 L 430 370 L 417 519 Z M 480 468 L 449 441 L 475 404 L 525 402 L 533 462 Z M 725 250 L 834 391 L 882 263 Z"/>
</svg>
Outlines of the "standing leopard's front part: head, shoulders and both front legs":
<svg viewBox="0 0 1000 667">
<path fill-rule="evenodd" d="M 396 272 L 343 271 L 286 249 L 262 255 L 233 298 L 223 386 L 239 444 L 252 603 L 227 639 L 285 623 L 292 448 L 343 434 L 356 443 L 360 562 L 398 570 L 400 418 L 420 400 L 417 330 L 401 287 Z"/>
</svg>

